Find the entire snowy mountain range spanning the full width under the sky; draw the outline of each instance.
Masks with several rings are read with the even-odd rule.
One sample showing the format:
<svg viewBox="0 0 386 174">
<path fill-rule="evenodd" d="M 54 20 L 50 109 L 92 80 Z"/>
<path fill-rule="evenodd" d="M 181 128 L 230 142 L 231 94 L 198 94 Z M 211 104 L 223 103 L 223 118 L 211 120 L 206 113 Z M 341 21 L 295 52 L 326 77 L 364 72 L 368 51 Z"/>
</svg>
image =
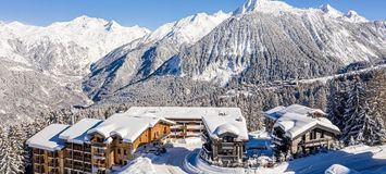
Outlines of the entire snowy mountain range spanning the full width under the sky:
<svg viewBox="0 0 386 174">
<path fill-rule="evenodd" d="M 0 115 L 11 122 L 109 102 L 153 79 L 162 88 L 170 78 L 263 84 L 385 59 L 386 22 L 331 5 L 248 0 L 234 12 L 198 13 L 153 32 L 88 16 L 46 27 L 0 23 Z"/>
</svg>

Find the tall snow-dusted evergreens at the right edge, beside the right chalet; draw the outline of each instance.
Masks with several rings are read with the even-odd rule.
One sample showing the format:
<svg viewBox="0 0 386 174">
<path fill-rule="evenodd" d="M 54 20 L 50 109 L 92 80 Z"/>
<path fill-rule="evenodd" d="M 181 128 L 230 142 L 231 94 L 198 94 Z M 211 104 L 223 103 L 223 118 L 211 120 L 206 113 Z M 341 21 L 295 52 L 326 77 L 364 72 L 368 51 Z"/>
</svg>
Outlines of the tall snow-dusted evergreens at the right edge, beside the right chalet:
<svg viewBox="0 0 386 174">
<path fill-rule="evenodd" d="M 385 75 L 354 74 L 331 83 L 328 119 L 340 130 L 346 145 L 379 145 L 385 141 L 382 92 L 386 90 Z M 371 79 L 369 79 L 371 78 Z M 382 100 L 379 100 L 382 99 Z"/>
</svg>

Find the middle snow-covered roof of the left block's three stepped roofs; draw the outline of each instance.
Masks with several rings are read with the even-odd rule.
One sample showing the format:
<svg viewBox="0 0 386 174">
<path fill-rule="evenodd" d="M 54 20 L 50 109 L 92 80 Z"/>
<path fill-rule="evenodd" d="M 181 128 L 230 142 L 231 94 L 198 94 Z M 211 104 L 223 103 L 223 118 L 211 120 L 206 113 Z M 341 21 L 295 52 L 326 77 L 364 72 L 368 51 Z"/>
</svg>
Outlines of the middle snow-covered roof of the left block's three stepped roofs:
<svg viewBox="0 0 386 174">
<path fill-rule="evenodd" d="M 73 144 L 87 141 L 87 132 L 98 126 L 102 121 L 96 119 L 83 119 L 59 135 L 59 138 Z"/>
</svg>

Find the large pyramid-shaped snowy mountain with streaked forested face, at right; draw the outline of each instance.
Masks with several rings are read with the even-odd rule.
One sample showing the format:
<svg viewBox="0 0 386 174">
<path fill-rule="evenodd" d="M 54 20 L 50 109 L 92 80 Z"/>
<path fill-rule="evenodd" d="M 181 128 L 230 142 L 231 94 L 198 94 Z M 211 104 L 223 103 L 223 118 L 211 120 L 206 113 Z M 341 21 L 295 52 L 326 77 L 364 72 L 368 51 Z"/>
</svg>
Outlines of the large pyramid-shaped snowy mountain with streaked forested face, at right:
<svg viewBox="0 0 386 174">
<path fill-rule="evenodd" d="M 384 23 L 349 13 L 331 5 L 297 9 L 281 1 L 249 0 L 166 62 L 158 75 L 257 83 L 324 76 L 352 62 L 385 59 Z"/>
</svg>

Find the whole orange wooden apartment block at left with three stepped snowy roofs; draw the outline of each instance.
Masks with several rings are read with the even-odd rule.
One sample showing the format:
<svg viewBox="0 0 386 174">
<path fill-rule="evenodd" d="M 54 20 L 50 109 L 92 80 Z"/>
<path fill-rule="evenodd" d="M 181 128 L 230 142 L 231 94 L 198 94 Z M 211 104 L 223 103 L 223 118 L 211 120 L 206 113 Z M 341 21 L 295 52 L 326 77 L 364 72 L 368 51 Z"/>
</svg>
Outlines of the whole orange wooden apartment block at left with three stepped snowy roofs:
<svg viewBox="0 0 386 174">
<path fill-rule="evenodd" d="M 124 114 L 105 121 L 85 119 L 73 126 L 52 124 L 27 140 L 34 173 L 109 173 L 133 160 L 139 147 L 162 146 L 173 124 L 161 117 Z"/>
</svg>

